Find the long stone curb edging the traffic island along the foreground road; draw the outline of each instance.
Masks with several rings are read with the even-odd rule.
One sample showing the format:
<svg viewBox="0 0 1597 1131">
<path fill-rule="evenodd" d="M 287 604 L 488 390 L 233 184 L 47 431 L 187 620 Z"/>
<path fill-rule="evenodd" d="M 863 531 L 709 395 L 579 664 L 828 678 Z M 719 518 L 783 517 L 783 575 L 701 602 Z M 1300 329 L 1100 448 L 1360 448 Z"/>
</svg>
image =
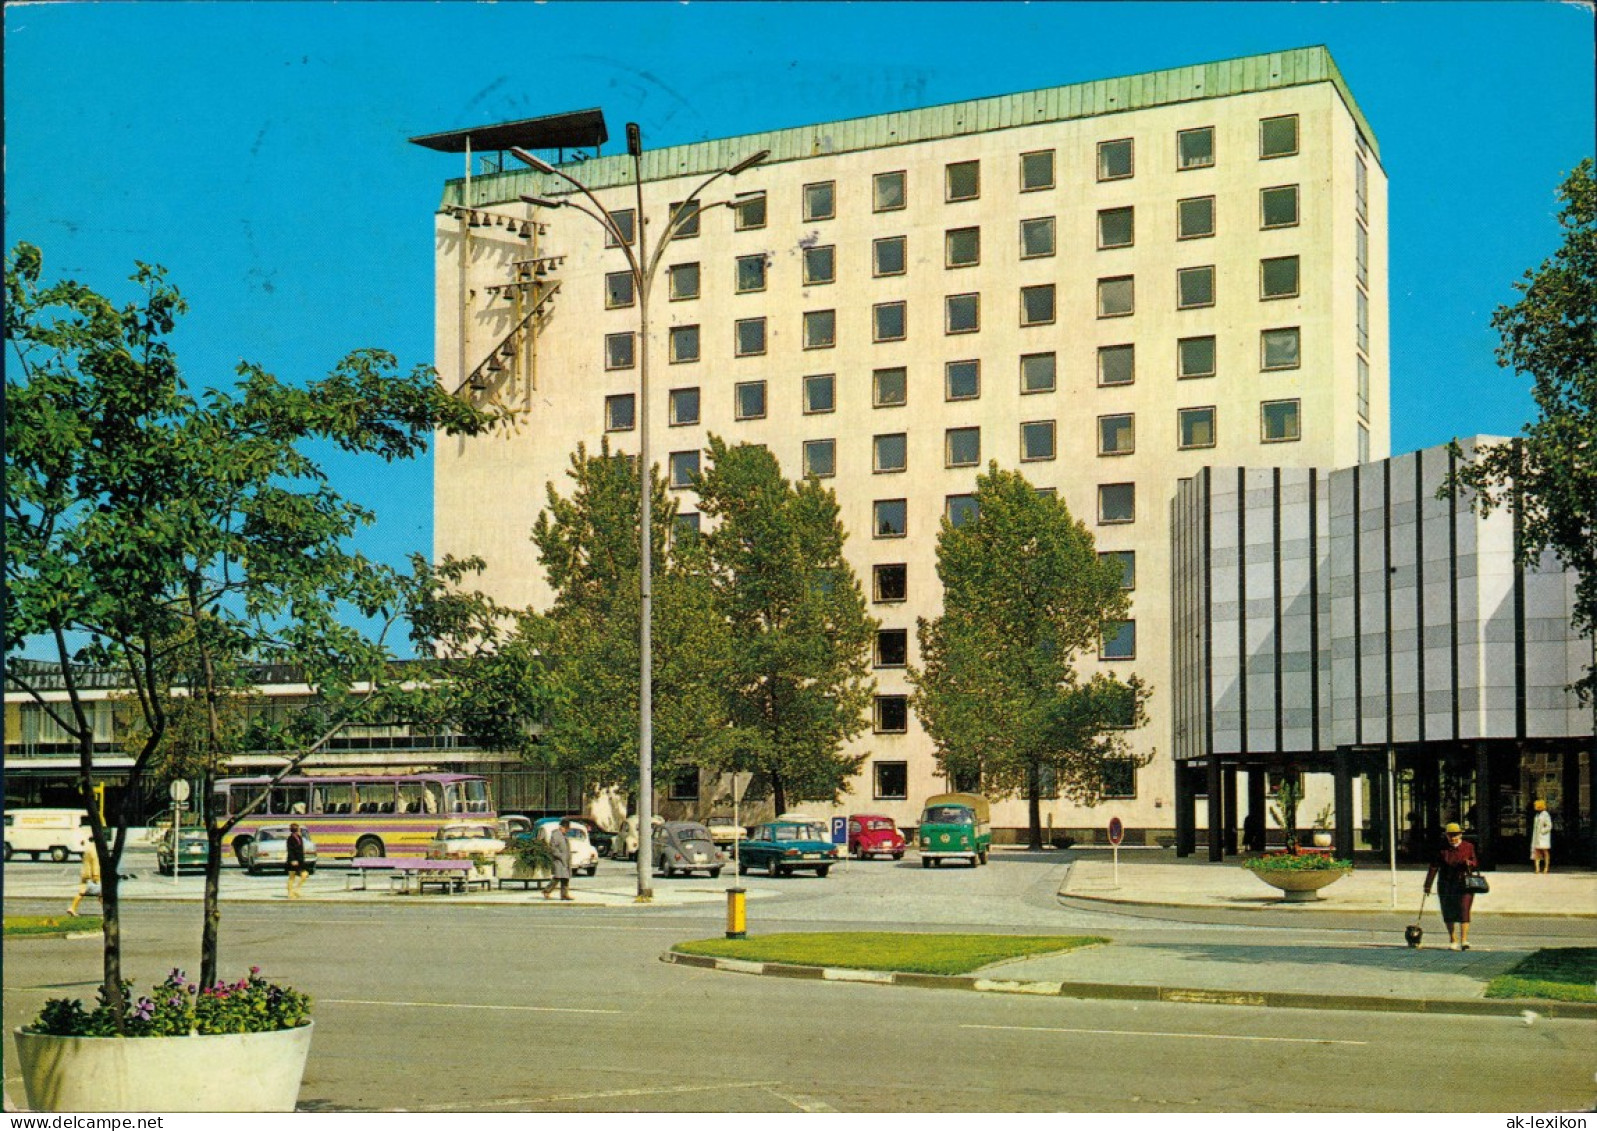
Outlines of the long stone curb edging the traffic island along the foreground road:
<svg viewBox="0 0 1597 1131">
<path fill-rule="evenodd" d="M 1597 1003 L 1544 1002 L 1541 998 L 1420 998 L 1420 997 L 1337 997 L 1286 990 L 1215 990 L 1180 986 L 1119 986 L 1115 982 L 1024 982 L 969 974 L 910 974 L 885 970 L 840 970 L 835 966 L 794 966 L 779 962 L 709 958 L 666 950 L 661 962 L 728 974 L 797 978 L 821 982 L 867 982 L 915 989 L 974 990 L 977 994 L 1024 994 L 1030 997 L 1070 997 L 1113 1002 L 1172 1002 L 1182 1005 L 1250 1005 L 1266 1010 L 1356 1010 L 1367 1013 L 1458 1013 L 1471 1016 L 1519 1018 L 1527 1011 L 1543 1018 L 1597 1021 Z"/>
</svg>

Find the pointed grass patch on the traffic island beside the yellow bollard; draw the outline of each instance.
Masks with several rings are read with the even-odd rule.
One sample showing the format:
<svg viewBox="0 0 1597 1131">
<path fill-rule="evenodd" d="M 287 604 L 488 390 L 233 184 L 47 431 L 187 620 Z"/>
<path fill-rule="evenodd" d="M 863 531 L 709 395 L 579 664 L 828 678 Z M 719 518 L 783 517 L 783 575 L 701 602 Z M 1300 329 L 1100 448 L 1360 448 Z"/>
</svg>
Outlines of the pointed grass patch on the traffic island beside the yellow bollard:
<svg viewBox="0 0 1597 1131">
<path fill-rule="evenodd" d="M 711 958 L 781 962 L 794 966 L 893 970 L 907 974 L 968 974 L 1005 958 L 1059 954 L 1108 942 L 1092 935 L 902 935 L 894 931 L 814 931 L 749 939 L 699 939 L 674 950 Z"/>
</svg>

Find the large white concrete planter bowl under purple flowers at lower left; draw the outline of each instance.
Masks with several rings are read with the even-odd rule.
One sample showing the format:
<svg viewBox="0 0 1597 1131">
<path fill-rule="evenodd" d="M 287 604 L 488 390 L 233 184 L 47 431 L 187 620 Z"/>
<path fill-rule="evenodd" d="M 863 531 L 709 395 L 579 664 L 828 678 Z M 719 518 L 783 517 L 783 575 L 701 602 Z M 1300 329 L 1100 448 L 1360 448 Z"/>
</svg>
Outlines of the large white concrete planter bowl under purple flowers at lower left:
<svg viewBox="0 0 1597 1131">
<path fill-rule="evenodd" d="M 35 1112 L 292 1112 L 315 1024 L 214 1037 L 14 1030 Z"/>
</svg>

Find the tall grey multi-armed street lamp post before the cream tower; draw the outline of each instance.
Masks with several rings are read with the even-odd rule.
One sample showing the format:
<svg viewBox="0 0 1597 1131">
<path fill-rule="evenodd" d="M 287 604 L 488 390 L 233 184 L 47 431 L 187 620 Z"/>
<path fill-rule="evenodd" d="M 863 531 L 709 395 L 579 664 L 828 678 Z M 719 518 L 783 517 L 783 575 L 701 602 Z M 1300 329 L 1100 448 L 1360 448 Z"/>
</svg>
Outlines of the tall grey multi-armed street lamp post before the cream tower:
<svg viewBox="0 0 1597 1131">
<path fill-rule="evenodd" d="M 760 150 L 743 158 L 719 173 L 706 177 L 682 204 L 666 219 L 666 227 L 660 235 L 655 254 L 648 254 L 648 243 L 644 224 L 644 137 L 636 121 L 626 123 L 626 152 L 632 158 L 632 185 L 637 190 L 637 211 L 634 217 L 634 233 L 637 251 L 621 232 L 615 216 L 599 203 L 599 198 L 577 177 L 559 169 L 540 157 L 524 149 L 511 149 L 516 160 L 532 166 L 538 173 L 556 176 L 570 184 L 588 198 L 592 208 L 586 208 L 572 198 L 549 200 L 546 196 L 522 196 L 529 204 L 541 208 L 575 208 L 583 216 L 596 220 L 626 256 L 626 265 L 632 275 L 632 289 L 637 292 L 637 481 L 639 481 L 639 628 L 637 628 L 637 901 L 648 903 L 655 898 L 653 882 L 653 808 L 655 808 L 655 660 L 653 660 L 653 476 L 648 462 L 648 292 L 660 270 L 660 259 L 690 216 L 703 209 L 696 206 L 698 195 L 709 188 L 720 177 L 735 177 L 770 157 L 770 150 Z M 730 201 L 719 201 L 730 203 Z"/>
</svg>

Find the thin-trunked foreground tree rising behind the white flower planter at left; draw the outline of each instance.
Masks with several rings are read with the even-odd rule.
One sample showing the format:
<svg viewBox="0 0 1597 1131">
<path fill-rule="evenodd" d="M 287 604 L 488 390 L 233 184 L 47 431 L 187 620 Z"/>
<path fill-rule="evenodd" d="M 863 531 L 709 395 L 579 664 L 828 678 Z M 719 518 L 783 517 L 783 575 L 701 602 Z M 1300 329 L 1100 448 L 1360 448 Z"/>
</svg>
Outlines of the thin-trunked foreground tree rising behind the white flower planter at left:
<svg viewBox="0 0 1597 1131">
<path fill-rule="evenodd" d="M 348 701 L 390 658 L 382 634 L 350 621 L 391 623 L 402 586 L 348 548 L 372 514 L 334 492 L 305 447 L 399 460 L 426 450 L 434 431 L 473 435 L 495 417 L 442 393 L 426 367 L 401 374 L 378 350 L 302 387 L 246 363 L 232 388 L 196 395 L 168 342 L 187 307 L 161 268 L 139 264 L 142 294 L 120 308 L 42 275 L 38 249 L 18 244 L 5 312 L 6 655 L 50 649 L 67 695 L 46 698 L 30 665 L 8 663 L 6 682 L 78 749 L 104 877 L 104 990 L 121 1003 L 118 863 L 174 692 L 204 712 L 201 724 L 185 712 L 177 738 L 190 754 L 195 743 L 209 751 L 200 800 L 216 850 L 227 821 L 209 808 L 209 775 L 236 741 L 225 701 L 243 693 L 246 665 L 297 663 L 324 698 Z M 126 682 L 142 736 L 109 821 L 89 804 L 99 776 L 83 693 L 91 668 Z M 203 978 L 216 970 L 219 867 L 212 851 Z"/>
</svg>

